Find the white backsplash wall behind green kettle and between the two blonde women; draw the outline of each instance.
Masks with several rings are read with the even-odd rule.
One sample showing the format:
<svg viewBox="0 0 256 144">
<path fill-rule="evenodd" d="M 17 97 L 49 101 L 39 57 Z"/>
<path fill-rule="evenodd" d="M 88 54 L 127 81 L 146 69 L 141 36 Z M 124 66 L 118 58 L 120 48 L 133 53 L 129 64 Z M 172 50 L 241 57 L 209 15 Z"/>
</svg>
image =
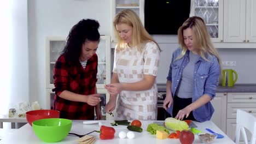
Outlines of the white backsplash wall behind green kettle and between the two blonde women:
<svg viewBox="0 0 256 144">
<path fill-rule="evenodd" d="M 161 49 L 160 66 L 156 81 L 166 83 L 168 69 L 171 63 L 172 52 L 178 44 L 159 43 Z M 256 48 L 256 47 L 255 47 Z M 236 61 L 235 67 L 222 67 L 222 69 L 234 69 L 237 72 L 236 83 L 256 83 L 256 49 L 217 49 L 222 61 Z"/>
</svg>

